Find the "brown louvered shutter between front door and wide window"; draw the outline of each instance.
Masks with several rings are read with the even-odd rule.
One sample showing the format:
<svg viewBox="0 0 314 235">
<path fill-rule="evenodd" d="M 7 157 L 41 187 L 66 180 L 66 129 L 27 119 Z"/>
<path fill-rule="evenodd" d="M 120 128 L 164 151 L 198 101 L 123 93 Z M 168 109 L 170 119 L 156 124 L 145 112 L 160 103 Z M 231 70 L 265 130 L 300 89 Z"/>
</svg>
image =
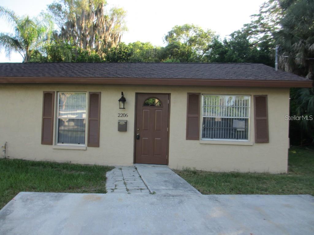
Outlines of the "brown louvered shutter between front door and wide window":
<svg viewBox="0 0 314 235">
<path fill-rule="evenodd" d="M 187 93 L 187 137 L 199 140 L 200 93 Z"/>
</svg>

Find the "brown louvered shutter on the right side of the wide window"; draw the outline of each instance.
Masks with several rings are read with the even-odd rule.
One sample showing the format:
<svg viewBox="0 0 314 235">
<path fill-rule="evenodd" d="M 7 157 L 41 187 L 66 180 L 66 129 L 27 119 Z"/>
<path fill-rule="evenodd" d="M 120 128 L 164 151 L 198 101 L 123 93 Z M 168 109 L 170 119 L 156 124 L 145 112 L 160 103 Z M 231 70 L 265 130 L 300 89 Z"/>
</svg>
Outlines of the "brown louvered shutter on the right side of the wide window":
<svg viewBox="0 0 314 235">
<path fill-rule="evenodd" d="M 267 95 L 254 96 L 255 143 L 268 143 Z"/>
</svg>

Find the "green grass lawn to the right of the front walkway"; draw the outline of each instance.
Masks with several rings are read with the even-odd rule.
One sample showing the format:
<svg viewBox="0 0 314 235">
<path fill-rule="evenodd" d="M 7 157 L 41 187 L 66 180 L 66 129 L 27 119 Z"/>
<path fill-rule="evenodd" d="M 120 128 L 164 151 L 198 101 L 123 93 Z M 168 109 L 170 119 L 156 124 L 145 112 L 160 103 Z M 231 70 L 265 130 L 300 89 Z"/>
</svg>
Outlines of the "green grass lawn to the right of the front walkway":
<svg viewBox="0 0 314 235">
<path fill-rule="evenodd" d="M 176 170 L 203 194 L 311 194 L 314 196 L 314 149 L 291 148 L 287 174 L 217 173 Z"/>
</svg>

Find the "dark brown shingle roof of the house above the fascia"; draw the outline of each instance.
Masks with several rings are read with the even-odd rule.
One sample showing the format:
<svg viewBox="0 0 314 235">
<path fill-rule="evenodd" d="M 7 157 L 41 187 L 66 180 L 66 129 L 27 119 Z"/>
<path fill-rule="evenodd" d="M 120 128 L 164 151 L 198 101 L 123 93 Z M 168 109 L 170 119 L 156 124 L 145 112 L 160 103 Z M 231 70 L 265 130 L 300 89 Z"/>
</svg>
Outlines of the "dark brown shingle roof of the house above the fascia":
<svg viewBox="0 0 314 235">
<path fill-rule="evenodd" d="M 267 65 L 246 63 L 0 63 L 1 77 L 309 81 Z"/>
</svg>

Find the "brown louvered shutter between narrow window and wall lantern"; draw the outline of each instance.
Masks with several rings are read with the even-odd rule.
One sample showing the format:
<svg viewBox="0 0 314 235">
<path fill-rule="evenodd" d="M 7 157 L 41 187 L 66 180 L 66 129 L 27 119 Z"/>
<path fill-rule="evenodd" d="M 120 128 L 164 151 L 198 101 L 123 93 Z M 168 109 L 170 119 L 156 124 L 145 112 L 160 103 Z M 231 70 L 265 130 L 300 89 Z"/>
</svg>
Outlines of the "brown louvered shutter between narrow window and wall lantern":
<svg viewBox="0 0 314 235">
<path fill-rule="evenodd" d="M 89 92 L 87 146 L 99 147 L 100 92 Z"/>
</svg>

